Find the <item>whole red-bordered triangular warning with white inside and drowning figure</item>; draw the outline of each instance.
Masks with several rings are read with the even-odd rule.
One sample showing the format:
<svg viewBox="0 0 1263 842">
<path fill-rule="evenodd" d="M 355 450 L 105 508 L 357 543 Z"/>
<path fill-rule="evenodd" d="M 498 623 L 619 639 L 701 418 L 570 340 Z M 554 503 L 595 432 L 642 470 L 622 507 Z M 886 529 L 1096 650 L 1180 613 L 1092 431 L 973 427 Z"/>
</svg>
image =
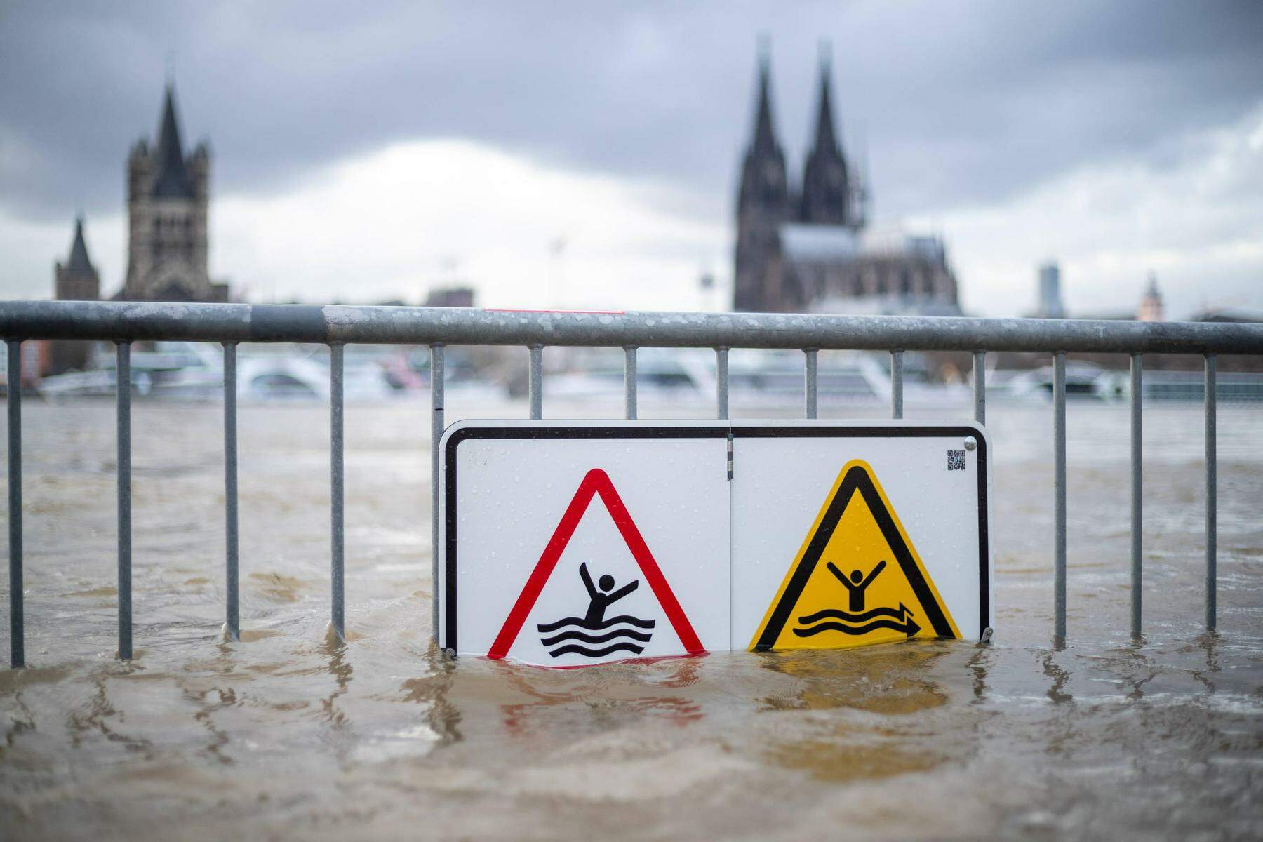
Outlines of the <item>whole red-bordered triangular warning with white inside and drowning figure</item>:
<svg viewBox="0 0 1263 842">
<path fill-rule="evenodd" d="M 590 515 L 594 500 L 601 505 Z M 584 549 L 567 553 L 585 521 L 594 521 L 587 526 L 590 533 L 613 524 L 619 538 L 611 542 L 608 537 L 596 540 L 596 535 L 589 535 L 582 542 Z M 609 549 L 615 542 L 621 544 L 623 553 Z M 597 545 L 605 549 L 589 558 L 586 548 Z M 562 564 L 567 557 L 570 563 Z M 557 582 L 558 578 L 562 581 Z M 541 601 L 547 590 L 552 591 L 551 598 Z M 666 621 L 666 629 L 659 626 L 659 619 Z M 601 468 L 592 468 L 584 477 L 488 656 L 509 655 L 524 626 L 554 665 L 634 658 L 663 635 L 669 641 L 659 641 L 653 648 L 655 655 L 705 651 L 644 537 Z M 537 651 L 534 645 L 529 649 Z"/>
</svg>

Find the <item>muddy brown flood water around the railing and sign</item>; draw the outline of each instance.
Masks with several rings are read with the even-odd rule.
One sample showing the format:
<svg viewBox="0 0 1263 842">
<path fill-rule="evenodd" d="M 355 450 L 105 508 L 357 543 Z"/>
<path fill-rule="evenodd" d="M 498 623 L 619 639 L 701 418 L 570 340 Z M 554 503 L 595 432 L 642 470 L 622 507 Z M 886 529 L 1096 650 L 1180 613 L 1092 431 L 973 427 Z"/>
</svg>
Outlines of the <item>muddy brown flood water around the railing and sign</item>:
<svg viewBox="0 0 1263 842">
<path fill-rule="evenodd" d="M 347 408 L 346 644 L 326 634 L 328 410 L 241 408 L 242 640 L 224 643 L 220 412 L 134 406 L 124 664 L 114 406 L 27 401 L 30 667 L 0 669 L 0 837 L 1263 836 L 1263 409 L 1220 406 L 1219 634 L 1202 630 L 1200 406 L 1146 413 L 1133 641 L 1128 414 L 1071 404 L 1056 649 L 1051 408 L 993 405 L 990 645 L 573 670 L 431 649 L 423 404 Z M 448 418 L 496 414 L 525 413 L 453 401 Z"/>
</svg>

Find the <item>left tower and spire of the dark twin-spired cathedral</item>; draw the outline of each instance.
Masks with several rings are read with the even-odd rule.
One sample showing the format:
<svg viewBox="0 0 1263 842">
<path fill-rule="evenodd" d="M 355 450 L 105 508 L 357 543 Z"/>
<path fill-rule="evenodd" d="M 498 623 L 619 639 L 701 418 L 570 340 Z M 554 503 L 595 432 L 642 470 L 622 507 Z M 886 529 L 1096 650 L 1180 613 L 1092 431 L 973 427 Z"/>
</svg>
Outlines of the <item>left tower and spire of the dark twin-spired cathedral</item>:
<svg viewBox="0 0 1263 842">
<path fill-rule="evenodd" d="M 772 122 L 772 69 L 759 58 L 759 92 L 754 138 L 741 165 L 736 203 L 736 266 L 733 307 L 738 311 L 781 309 L 781 223 L 789 213 L 786 157 Z"/>
</svg>

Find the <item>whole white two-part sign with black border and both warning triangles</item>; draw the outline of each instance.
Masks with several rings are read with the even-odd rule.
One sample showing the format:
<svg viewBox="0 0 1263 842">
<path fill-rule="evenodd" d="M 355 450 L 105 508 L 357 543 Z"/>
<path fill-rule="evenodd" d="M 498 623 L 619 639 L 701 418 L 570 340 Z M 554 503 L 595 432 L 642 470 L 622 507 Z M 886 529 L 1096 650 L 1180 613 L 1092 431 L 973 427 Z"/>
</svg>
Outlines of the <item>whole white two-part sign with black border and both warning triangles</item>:
<svg viewBox="0 0 1263 842">
<path fill-rule="evenodd" d="M 974 424 L 461 422 L 441 453 L 455 653 L 576 667 L 991 625 Z"/>
</svg>

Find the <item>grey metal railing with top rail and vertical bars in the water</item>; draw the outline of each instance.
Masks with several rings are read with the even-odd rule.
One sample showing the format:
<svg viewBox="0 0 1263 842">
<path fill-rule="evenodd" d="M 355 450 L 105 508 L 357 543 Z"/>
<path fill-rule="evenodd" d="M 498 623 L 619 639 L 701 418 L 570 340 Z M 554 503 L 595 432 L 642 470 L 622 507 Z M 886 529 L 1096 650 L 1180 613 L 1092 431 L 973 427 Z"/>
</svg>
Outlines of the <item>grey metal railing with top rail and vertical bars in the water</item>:
<svg viewBox="0 0 1263 842">
<path fill-rule="evenodd" d="M 426 307 L 298 304 L 172 304 L 124 302 L 0 302 L 0 336 L 9 348 L 9 384 L 20 382 L 24 340 L 96 340 L 117 345 L 117 382 L 129 382 L 131 342 L 184 340 L 224 346 L 224 487 L 226 533 L 225 629 L 240 631 L 237 602 L 236 346 L 306 342 L 330 346 L 331 626 L 345 632 L 342 346 L 426 345 L 431 351 L 431 540 L 438 564 L 438 439 L 443 432 L 443 353 L 448 345 L 508 345 L 529 350 L 530 418 L 543 414 L 543 350 L 599 346 L 624 350 L 625 415 L 637 417 L 637 350 L 701 347 L 715 351 L 715 413 L 729 417 L 730 348 L 803 352 L 803 414 L 817 414 L 817 353 L 882 350 L 890 353 L 890 417 L 903 417 L 903 352 L 973 353 L 974 418 L 986 414 L 989 351 L 1033 351 L 1053 360 L 1053 606 L 1055 640 L 1066 637 L 1066 353 L 1130 355 L 1132 364 L 1132 632 L 1142 624 L 1142 361 L 1146 353 L 1190 353 L 1205 360 L 1206 627 L 1215 629 L 1216 456 L 1215 357 L 1263 355 L 1263 324 L 1105 322 L 1075 319 L 782 316 L 767 313 L 581 313 Z M 9 627 L 10 664 L 21 667 L 21 393 L 9 389 Z M 117 390 L 119 658 L 131 658 L 131 394 Z M 437 581 L 437 571 L 434 581 Z"/>
</svg>

